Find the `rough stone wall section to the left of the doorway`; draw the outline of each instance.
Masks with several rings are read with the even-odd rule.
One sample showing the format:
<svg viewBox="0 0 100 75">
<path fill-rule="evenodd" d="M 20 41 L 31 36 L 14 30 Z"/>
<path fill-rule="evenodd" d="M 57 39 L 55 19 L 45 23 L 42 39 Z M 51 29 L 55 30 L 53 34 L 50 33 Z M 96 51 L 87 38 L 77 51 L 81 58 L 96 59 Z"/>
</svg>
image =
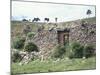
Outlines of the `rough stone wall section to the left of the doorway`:
<svg viewBox="0 0 100 75">
<path fill-rule="evenodd" d="M 34 38 L 31 39 L 39 48 L 39 57 L 45 56 L 48 58 L 52 53 L 53 48 L 58 44 L 57 31 L 42 30 L 39 31 Z"/>
</svg>

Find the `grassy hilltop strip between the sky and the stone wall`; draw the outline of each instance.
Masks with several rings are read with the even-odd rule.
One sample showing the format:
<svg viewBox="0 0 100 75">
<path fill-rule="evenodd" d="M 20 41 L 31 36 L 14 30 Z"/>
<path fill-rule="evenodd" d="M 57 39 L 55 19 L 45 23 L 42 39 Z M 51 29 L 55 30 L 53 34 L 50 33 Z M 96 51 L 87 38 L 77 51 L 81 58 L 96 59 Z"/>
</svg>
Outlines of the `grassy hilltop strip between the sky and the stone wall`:
<svg viewBox="0 0 100 75">
<path fill-rule="evenodd" d="M 11 32 L 12 35 L 20 34 L 23 31 L 24 26 L 29 25 L 32 31 L 36 32 L 37 29 L 41 26 L 44 26 L 44 29 L 48 30 L 56 26 L 56 28 L 73 28 L 79 26 L 81 21 L 86 21 L 88 24 L 95 24 L 96 17 L 87 18 L 87 19 L 80 19 L 75 21 L 68 21 L 68 22 L 60 22 L 60 23 L 42 23 L 42 22 L 22 22 L 22 21 L 11 21 Z"/>
</svg>

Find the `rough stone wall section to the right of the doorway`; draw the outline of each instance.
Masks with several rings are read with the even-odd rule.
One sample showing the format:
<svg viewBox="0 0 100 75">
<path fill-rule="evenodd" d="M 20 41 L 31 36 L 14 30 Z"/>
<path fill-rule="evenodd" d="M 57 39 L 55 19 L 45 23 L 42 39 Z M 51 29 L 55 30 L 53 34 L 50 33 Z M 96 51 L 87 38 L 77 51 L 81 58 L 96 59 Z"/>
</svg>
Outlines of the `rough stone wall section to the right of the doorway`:
<svg viewBox="0 0 100 75">
<path fill-rule="evenodd" d="M 96 24 L 77 26 L 70 29 L 70 42 L 80 42 L 81 44 L 96 44 Z"/>
</svg>

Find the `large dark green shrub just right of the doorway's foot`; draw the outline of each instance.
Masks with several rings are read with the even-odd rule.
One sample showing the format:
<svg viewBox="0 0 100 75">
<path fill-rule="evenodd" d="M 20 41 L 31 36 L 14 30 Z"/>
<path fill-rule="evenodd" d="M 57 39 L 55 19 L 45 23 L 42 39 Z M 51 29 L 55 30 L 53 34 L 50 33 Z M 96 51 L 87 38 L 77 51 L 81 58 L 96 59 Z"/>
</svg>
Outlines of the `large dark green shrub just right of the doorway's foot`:
<svg viewBox="0 0 100 75">
<path fill-rule="evenodd" d="M 79 43 L 72 43 L 71 44 L 71 52 L 69 54 L 69 58 L 82 58 L 83 57 L 83 51 L 84 46 L 82 46 Z"/>
</svg>

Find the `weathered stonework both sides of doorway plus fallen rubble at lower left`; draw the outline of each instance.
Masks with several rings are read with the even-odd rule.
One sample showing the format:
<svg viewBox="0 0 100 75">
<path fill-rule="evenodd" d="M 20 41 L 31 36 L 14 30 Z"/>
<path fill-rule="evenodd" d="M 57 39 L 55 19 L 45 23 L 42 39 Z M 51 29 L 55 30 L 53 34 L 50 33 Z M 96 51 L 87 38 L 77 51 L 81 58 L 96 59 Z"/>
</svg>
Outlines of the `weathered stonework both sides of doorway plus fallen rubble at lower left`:
<svg viewBox="0 0 100 75">
<path fill-rule="evenodd" d="M 52 25 L 52 24 L 51 24 Z M 49 30 L 40 30 L 36 32 L 33 38 L 27 38 L 26 43 L 33 42 L 39 48 L 39 52 L 28 53 L 19 52 L 22 57 L 22 63 L 28 63 L 32 57 L 36 56 L 41 59 L 41 61 L 50 57 L 55 46 L 58 45 L 58 29 L 62 26 L 62 23 L 57 24 L 58 27 L 51 27 Z M 69 25 L 69 26 L 68 26 Z M 93 44 L 96 45 L 96 24 L 87 24 L 85 27 L 81 25 L 80 22 L 68 23 L 67 28 L 70 29 L 69 33 L 69 43 L 79 42 L 83 45 Z M 71 26 L 70 26 L 71 25 Z M 30 28 L 29 28 L 30 29 Z M 64 29 L 62 26 L 61 29 Z M 13 50 L 12 54 L 17 50 Z M 21 63 L 21 64 L 22 64 Z"/>
</svg>

